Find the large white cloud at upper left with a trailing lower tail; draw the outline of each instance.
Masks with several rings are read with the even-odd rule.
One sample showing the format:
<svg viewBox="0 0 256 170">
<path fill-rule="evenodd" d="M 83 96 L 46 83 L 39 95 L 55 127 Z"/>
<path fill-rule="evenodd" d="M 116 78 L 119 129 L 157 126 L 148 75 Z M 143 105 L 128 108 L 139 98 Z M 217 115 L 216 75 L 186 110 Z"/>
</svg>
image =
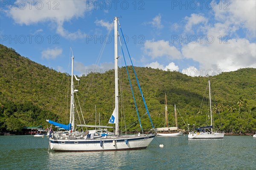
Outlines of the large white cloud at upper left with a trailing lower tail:
<svg viewBox="0 0 256 170">
<path fill-rule="evenodd" d="M 20 4 L 20 2 L 20 0 L 17 0 L 16 4 Z M 5 12 L 15 20 L 15 23 L 21 25 L 31 25 L 40 22 L 56 23 L 56 32 L 70 39 L 83 38 L 86 35 L 80 30 L 68 32 L 63 28 L 63 23 L 83 17 L 85 12 L 91 10 L 92 6 L 89 7 L 86 5 L 86 1 L 80 0 L 54 1 L 54 4 L 49 2 L 41 0 L 22 1 L 22 4 L 26 4 L 26 8 L 12 7 L 9 10 L 5 10 Z"/>
</svg>

